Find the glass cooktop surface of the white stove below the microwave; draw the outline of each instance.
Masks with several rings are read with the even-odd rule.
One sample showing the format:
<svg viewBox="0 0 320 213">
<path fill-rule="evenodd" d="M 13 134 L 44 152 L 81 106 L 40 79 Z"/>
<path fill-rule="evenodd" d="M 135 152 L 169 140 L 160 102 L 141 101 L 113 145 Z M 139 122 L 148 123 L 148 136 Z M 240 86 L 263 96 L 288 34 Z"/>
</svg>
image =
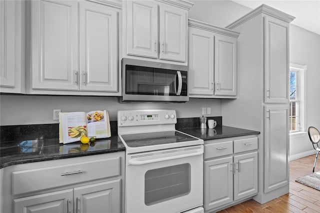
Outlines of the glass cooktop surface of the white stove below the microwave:
<svg viewBox="0 0 320 213">
<path fill-rule="evenodd" d="M 196 137 L 192 137 L 178 131 L 159 131 L 137 134 L 122 134 L 121 137 L 129 147 L 198 140 L 198 138 Z"/>
</svg>

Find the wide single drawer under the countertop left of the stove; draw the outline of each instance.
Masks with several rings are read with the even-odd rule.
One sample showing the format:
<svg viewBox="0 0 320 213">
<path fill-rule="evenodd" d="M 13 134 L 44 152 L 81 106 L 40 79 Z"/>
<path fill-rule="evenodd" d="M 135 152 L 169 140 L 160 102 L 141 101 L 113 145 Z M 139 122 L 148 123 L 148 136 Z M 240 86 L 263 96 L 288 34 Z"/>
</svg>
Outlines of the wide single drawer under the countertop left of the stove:
<svg viewBox="0 0 320 213">
<path fill-rule="evenodd" d="M 12 193 L 20 194 L 120 175 L 120 157 L 12 172 Z"/>
</svg>

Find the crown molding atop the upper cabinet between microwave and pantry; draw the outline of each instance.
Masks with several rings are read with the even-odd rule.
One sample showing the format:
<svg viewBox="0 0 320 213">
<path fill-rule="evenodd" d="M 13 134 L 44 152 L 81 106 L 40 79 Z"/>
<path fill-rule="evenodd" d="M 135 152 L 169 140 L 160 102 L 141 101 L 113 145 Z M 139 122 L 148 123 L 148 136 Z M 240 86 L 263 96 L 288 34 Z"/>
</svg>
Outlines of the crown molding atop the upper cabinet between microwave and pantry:
<svg viewBox="0 0 320 213">
<path fill-rule="evenodd" d="M 214 26 L 212 24 L 205 23 L 205 22 L 191 19 L 191 18 L 188 18 L 188 26 L 198 28 L 198 29 L 203 29 L 206 31 L 211 31 L 211 32 L 218 33 L 218 34 L 223 34 L 223 35 L 235 37 L 235 38 L 237 38 L 240 34 L 239 32 L 236 32 L 236 31 L 233 31 L 233 30 L 230 30 L 227 28 Z"/>
</svg>

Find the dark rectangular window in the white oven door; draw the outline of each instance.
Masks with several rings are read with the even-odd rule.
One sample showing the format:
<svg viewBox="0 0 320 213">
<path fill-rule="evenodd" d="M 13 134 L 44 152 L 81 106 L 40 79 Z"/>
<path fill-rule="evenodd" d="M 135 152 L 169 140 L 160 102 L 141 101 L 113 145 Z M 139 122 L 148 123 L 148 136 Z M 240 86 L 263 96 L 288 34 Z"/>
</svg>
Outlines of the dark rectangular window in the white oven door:
<svg viewBox="0 0 320 213">
<path fill-rule="evenodd" d="M 151 169 L 144 175 L 144 203 L 152 205 L 190 192 L 190 164 Z"/>
</svg>

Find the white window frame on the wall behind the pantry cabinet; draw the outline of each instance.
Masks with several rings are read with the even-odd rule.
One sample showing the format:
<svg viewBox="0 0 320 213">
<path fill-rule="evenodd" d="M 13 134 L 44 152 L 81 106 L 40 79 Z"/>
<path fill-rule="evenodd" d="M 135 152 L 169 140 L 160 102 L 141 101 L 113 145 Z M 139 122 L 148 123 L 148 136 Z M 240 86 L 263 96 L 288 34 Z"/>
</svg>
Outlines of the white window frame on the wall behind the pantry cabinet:
<svg viewBox="0 0 320 213">
<path fill-rule="evenodd" d="M 290 131 L 290 134 L 296 134 L 300 132 L 305 132 L 305 72 L 306 65 L 300 65 L 295 63 L 290 63 L 289 71 L 295 71 L 296 75 L 296 100 L 289 100 L 290 102 L 297 102 L 297 129 Z M 289 89 L 290 90 L 290 89 Z"/>
</svg>

